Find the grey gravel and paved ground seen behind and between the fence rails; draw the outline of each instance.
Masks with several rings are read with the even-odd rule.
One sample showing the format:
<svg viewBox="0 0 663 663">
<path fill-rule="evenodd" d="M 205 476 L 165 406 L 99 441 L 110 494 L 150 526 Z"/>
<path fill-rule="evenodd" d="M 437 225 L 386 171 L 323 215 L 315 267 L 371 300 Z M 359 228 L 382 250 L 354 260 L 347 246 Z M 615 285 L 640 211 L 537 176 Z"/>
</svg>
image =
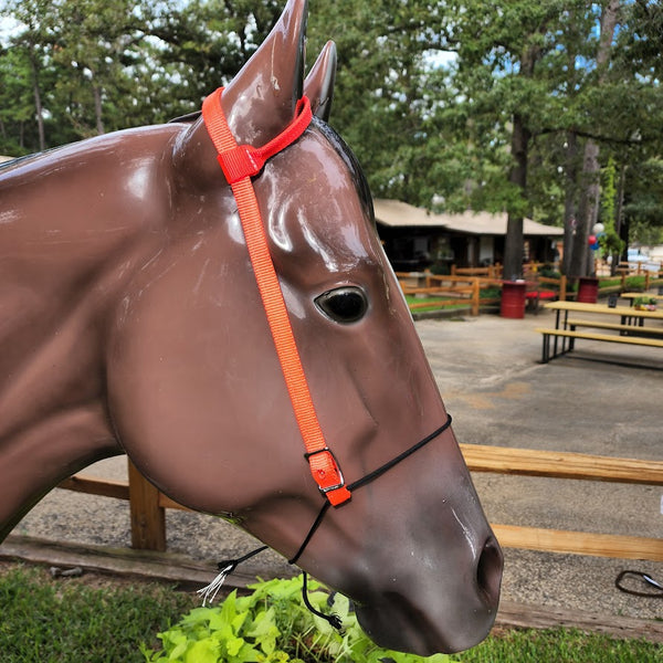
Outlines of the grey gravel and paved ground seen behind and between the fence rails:
<svg viewBox="0 0 663 663">
<path fill-rule="evenodd" d="M 460 442 L 661 460 L 660 397 L 663 357 L 653 348 L 587 343 L 575 356 L 540 365 L 535 326 L 493 315 L 420 320 L 418 332 Z M 610 362 L 596 359 L 611 359 Z M 126 460 L 97 463 L 86 474 L 126 477 Z M 661 486 L 476 474 L 491 522 L 663 538 Z M 238 556 L 255 544 L 235 527 L 209 516 L 169 511 L 168 549 L 194 559 Z M 118 501 L 55 490 L 14 534 L 128 547 L 128 506 Z M 527 604 L 598 614 L 663 618 L 663 601 L 614 588 L 625 568 L 663 581 L 663 564 L 505 550 L 503 598 Z M 276 554 L 263 554 L 244 570 L 288 575 Z"/>
</svg>

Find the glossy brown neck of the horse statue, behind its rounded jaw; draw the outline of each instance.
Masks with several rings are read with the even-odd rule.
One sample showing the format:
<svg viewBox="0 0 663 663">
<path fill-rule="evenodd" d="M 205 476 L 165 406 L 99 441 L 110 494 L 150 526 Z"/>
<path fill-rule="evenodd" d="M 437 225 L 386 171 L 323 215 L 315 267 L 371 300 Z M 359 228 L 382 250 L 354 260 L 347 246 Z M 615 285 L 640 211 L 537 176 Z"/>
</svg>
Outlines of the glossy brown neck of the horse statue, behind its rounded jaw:
<svg viewBox="0 0 663 663">
<path fill-rule="evenodd" d="M 0 180 L 0 540 L 59 481 L 120 453 L 106 329 L 162 211 L 146 182 L 171 135 L 110 135 Z"/>
</svg>

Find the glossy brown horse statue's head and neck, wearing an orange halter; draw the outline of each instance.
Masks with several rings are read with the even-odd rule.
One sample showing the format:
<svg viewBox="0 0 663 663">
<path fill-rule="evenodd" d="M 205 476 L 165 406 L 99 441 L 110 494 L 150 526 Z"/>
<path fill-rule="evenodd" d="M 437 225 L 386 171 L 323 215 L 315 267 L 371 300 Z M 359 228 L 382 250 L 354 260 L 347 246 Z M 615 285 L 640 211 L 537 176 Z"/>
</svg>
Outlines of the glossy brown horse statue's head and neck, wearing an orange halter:
<svg viewBox="0 0 663 663">
<path fill-rule="evenodd" d="M 202 117 L 0 171 L 0 536 L 127 453 L 350 597 L 377 643 L 456 651 L 493 623 L 502 555 L 325 122 L 332 43 L 304 82 L 305 17 L 291 0 Z"/>
</svg>

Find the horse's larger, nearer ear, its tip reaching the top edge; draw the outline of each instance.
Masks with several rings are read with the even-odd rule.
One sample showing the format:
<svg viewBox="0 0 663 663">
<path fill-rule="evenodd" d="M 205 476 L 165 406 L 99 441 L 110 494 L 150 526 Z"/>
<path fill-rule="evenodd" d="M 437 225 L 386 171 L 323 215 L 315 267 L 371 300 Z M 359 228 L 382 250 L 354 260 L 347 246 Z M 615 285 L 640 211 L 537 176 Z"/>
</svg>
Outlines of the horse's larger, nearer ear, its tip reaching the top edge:
<svg viewBox="0 0 663 663">
<path fill-rule="evenodd" d="M 307 0 L 288 0 L 265 41 L 223 91 L 239 144 L 264 145 L 292 120 L 304 83 Z"/>
</svg>

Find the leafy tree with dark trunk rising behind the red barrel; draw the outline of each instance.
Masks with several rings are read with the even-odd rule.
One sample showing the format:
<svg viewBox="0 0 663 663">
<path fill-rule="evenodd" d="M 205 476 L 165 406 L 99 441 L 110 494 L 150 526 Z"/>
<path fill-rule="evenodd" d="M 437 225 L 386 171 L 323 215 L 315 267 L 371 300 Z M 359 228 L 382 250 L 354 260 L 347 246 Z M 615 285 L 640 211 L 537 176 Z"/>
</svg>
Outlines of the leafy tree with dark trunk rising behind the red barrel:
<svg viewBox="0 0 663 663">
<path fill-rule="evenodd" d="M 502 204 L 508 213 L 504 270 L 509 277 L 522 274 L 523 218 L 532 214 L 537 199 L 540 202 L 550 191 L 548 186 L 538 196 L 533 191 L 533 156 L 550 164 L 544 157 L 550 140 L 543 137 L 555 136 L 559 144 L 568 130 L 567 82 L 569 72 L 575 76 L 572 57 L 582 51 L 581 40 L 590 29 L 585 4 L 555 0 L 505 0 L 488 7 L 463 0 L 446 4 L 443 42 L 459 54 L 456 81 L 465 113 L 473 119 L 481 116 L 484 122 L 498 124 L 502 134 L 509 136 L 504 183 L 493 193 L 491 206 Z M 495 147 L 502 148 L 497 145 L 493 154 L 484 151 L 482 161 L 504 162 L 504 155 Z"/>
</svg>

